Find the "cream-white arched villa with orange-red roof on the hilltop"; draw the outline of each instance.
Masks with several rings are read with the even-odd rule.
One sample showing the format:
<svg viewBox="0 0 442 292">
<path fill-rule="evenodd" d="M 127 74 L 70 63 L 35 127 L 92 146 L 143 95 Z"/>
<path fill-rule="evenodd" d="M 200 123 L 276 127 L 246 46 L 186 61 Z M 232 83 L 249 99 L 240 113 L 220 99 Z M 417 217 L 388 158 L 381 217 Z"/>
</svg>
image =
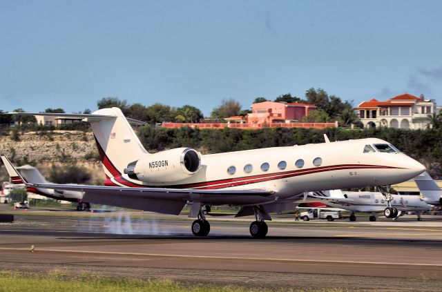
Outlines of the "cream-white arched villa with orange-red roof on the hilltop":
<svg viewBox="0 0 442 292">
<path fill-rule="evenodd" d="M 363 101 L 355 110 L 365 128 L 424 129 L 432 127 L 428 116 L 437 113 L 437 106 L 434 100 L 405 93 L 387 101 Z"/>
</svg>

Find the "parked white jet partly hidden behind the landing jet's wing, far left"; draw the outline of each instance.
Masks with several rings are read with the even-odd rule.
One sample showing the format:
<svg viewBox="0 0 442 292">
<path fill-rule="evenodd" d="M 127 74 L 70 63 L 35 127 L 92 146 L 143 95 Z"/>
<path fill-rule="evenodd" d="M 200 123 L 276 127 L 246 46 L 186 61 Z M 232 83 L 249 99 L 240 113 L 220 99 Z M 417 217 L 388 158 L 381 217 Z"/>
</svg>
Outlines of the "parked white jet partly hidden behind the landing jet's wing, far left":
<svg viewBox="0 0 442 292">
<path fill-rule="evenodd" d="M 3 161 L 6 164 L 6 162 Z M 16 168 L 20 173 L 25 182 L 34 182 L 38 184 L 50 184 L 46 178 L 41 175 L 39 170 L 34 166 L 25 165 Z M 66 191 L 51 188 L 36 188 L 33 186 L 28 186 L 26 191 L 30 193 L 35 193 L 38 195 L 43 195 L 45 197 L 50 197 L 52 199 L 63 199 L 68 202 L 75 202 L 77 204 L 77 211 L 89 211 L 90 204 L 87 202 L 81 202 L 83 198 L 83 193 L 81 191 Z"/>
</svg>

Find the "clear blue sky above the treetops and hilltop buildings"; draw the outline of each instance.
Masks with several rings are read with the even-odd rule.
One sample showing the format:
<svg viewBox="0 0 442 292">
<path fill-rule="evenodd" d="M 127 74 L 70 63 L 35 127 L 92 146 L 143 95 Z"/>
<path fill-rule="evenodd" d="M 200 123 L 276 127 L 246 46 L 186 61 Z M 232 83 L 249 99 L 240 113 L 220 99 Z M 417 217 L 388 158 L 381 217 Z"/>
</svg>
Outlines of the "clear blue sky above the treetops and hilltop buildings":
<svg viewBox="0 0 442 292">
<path fill-rule="evenodd" d="M 0 0 L 0 109 L 249 108 L 324 88 L 442 104 L 442 1 Z"/>
</svg>

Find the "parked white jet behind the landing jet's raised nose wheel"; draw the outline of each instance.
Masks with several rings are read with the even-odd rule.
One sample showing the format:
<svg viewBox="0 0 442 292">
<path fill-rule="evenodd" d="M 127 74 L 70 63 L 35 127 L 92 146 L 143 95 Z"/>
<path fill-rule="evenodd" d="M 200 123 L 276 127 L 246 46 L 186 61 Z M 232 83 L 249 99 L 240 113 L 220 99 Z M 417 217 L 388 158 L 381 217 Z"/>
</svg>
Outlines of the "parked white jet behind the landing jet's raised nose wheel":
<svg viewBox="0 0 442 292">
<path fill-rule="evenodd" d="M 385 211 L 385 197 L 380 192 L 332 190 L 310 193 L 309 197 L 317 199 L 318 202 L 323 202 L 327 206 L 352 211 L 349 217 L 350 221 L 356 221 L 355 212 L 372 213 L 369 220 L 376 221 L 376 213 Z M 417 195 L 392 195 L 392 198 L 391 206 L 393 213 L 389 217 L 393 219 L 405 215 L 406 212 L 415 212 L 417 220 L 421 221 L 421 213 L 432 208 L 432 206 L 428 205 Z M 387 217 L 385 213 L 384 215 Z"/>
</svg>

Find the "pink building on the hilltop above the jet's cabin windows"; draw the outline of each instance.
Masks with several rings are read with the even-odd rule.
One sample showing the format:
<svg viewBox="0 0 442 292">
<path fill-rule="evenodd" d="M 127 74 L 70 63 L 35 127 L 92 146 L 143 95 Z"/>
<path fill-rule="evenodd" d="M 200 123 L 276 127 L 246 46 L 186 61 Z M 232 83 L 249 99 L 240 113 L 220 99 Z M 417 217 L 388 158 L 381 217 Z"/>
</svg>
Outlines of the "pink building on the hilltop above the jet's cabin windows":
<svg viewBox="0 0 442 292">
<path fill-rule="evenodd" d="M 294 123 L 316 110 L 314 104 L 287 104 L 285 102 L 264 101 L 252 104 L 247 115 L 249 124 Z"/>
</svg>

